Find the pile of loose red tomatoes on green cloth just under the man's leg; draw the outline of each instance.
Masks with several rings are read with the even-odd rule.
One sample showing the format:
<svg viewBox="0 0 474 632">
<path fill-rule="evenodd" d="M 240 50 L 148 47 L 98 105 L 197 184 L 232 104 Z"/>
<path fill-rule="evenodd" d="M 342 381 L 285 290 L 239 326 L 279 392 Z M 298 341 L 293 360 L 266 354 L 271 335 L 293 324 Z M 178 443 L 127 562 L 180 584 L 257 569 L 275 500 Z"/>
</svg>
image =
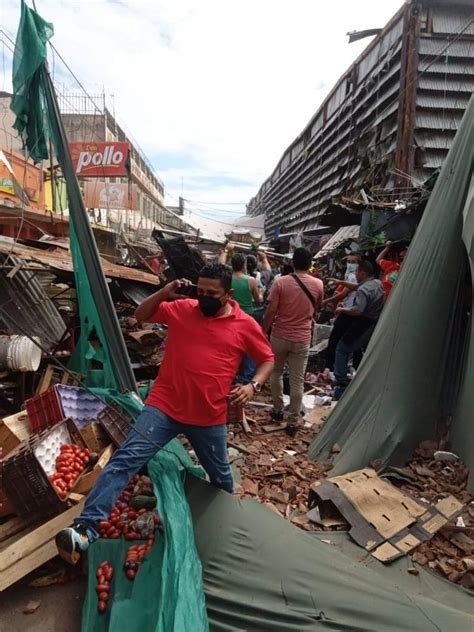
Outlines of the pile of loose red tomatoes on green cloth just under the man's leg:
<svg viewBox="0 0 474 632">
<path fill-rule="evenodd" d="M 138 480 L 138 475 L 132 478 L 116 501 L 107 520 L 99 522 L 101 538 L 114 540 L 123 535 L 126 540 L 143 539 L 143 533 L 139 531 L 137 521 L 139 522 L 140 517 L 149 513 L 150 510 L 132 507 L 132 493 Z M 153 512 L 153 523 L 155 528 L 160 524 L 160 518 L 156 512 Z"/>
</svg>

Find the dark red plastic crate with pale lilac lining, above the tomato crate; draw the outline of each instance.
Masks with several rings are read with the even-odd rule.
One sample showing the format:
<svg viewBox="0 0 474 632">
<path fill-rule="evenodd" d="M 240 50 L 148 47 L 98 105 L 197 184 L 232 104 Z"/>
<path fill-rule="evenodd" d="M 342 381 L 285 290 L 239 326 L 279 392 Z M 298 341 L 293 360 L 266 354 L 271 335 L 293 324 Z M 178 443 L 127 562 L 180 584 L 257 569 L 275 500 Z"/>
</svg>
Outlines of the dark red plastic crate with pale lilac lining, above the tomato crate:
<svg viewBox="0 0 474 632">
<path fill-rule="evenodd" d="M 26 401 L 26 410 L 33 432 L 51 428 L 70 417 L 78 427 L 97 419 L 106 404 L 80 386 L 55 384 L 44 393 Z"/>
</svg>

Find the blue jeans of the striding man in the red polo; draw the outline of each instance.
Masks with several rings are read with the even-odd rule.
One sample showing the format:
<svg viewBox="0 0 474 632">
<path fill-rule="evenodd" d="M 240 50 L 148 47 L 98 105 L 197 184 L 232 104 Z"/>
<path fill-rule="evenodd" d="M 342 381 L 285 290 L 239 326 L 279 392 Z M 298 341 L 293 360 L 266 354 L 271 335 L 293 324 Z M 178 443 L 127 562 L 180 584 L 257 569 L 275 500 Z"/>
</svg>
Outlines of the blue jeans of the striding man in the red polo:
<svg viewBox="0 0 474 632">
<path fill-rule="evenodd" d="M 227 427 L 192 426 L 168 417 L 154 406 L 145 406 L 134 428 L 155 444 L 164 447 L 178 434 L 184 434 L 209 475 L 211 483 L 232 493 L 232 472 L 227 457 Z M 115 501 L 130 479 L 159 451 L 135 430 L 114 453 L 87 497 L 84 510 L 74 521 L 85 525 L 89 539 L 98 537 L 98 523 L 106 520 Z"/>
</svg>

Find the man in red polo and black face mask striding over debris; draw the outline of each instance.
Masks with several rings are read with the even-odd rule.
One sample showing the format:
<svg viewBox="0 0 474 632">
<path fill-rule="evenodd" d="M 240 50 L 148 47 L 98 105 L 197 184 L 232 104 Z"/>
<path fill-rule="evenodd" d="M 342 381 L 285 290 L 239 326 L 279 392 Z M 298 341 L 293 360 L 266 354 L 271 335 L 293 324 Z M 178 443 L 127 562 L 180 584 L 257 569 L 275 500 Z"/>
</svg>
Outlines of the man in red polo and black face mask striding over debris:
<svg viewBox="0 0 474 632">
<path fill-rule="evenodd" d="M 136 310 L 139 321 L 168 325 L 166 353 L 143 412 L 97 479 L 74 527 L 56 536 L 59 553 L 77 562 L 98 537 L 98 523 L 109 515 L 130 479 L 171 439 L 184 434 L 211 483 L 230 493 L 227 458 L 227 404 L 245 404 L 259 392 L 273 369 L 273 353 L 257 322 L 231 300 L 232 269 L 205 266 L 197 300 L 177 294 L 188 281 L 173 281 Z M 254 380 L 232 388 L 244 356 L 257 364 Z M 135 432 L 135 429 L 137 432 Z"/>
</svg>

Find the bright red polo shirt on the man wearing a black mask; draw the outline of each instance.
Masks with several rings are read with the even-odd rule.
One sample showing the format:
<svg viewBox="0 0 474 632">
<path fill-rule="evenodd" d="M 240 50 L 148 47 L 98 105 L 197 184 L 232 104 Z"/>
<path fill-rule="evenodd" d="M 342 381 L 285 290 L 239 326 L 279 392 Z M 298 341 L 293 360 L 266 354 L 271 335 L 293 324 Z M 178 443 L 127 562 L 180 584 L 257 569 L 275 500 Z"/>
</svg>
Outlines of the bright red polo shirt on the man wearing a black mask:
<svg viewBox="0 0 474 632">
<path fill-rule="evenodd" d="M 194 299 L 161 303 L 152 322 L 168 325 L 160 373 L 146 403 L 182 423 L 217 426 L 227 421 L 227 396 L 244 356 L 273 362 L 261 327 L 235 301 L 232 313 L 203 316 Z"/>
</svg>

